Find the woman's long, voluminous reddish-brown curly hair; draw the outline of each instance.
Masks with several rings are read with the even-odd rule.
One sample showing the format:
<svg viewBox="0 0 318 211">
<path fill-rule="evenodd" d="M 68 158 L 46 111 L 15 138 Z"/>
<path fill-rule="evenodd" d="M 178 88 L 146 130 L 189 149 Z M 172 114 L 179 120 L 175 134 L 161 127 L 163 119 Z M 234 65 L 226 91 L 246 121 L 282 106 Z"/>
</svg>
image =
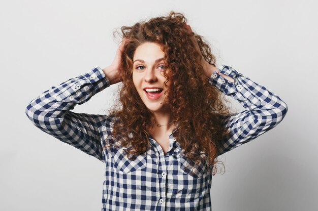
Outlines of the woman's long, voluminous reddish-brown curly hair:
<svg viewBox="0 0 318 211">
<path fill-rule="evenodd" d="M 128 38 L 122 53 L 122 83 L 120 106 L 109 116 L 115 117 L 112 136 L 121 140 L 128 155 L 143 154 L 147 151 L 149 130 L 154 126 L 153 114 L 142 102 L 133 83 L 133 56 L 138 46 L 153 42 L 163 47 L 167 68 L 166 83 L 171 80 L 165 105 L 171 111 L 176 141 L 184 150 L 184 156 L 199 164 L 208 164 L 209 173 L 217 171 L 217 153 L 228 131 L 221 116 L 230 113 L 222 93 L 211 86 L 209 78 L 203 74 L 200 54 L 196 51 L 192 38 L 198 41 L 201 54 L 215 66 L 215 57 L 203 37 L 189 32 L 187 19 L 181 13 L 170 12 L 166 17 L 156 17 L 138 22 L 133 26 L 121 27 L 121 38 Z M 107 145 L 105 148 L 108 147 Z M 205 155 L 205 156 L 203 156 Z M 203 160 L 204 158 L 204 160 Z M 213 172 L 210 172 L 214 169 Z"/>
</svg>

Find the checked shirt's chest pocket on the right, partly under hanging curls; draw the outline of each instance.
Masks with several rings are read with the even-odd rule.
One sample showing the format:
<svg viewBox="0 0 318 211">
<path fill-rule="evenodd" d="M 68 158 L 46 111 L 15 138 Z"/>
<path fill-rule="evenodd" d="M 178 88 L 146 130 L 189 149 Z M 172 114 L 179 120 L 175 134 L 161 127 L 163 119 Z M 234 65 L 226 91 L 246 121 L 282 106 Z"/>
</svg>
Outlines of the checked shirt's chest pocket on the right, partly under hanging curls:
<svg viewBox="0 0 318 211">
<path fill-rule="evenodd" d="M 201 155 L 200 162 L 196 164 L 195 161 L 189 159 L 188 157 L 184 156 L 183 153 L 179 154 L 180 160 L 180 168 L 184 174 L 190 175 L 194 178 L 201 178 L 206 175 L 208 172 L 207 156 L 205 154 Z"/>
</svg>

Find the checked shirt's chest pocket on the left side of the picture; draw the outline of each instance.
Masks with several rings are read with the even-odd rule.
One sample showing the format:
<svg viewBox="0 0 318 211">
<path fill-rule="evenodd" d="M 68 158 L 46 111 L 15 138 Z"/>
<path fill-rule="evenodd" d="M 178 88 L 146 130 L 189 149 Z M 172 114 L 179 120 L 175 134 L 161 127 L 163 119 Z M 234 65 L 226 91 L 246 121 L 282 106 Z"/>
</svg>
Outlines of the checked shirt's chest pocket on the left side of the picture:
<svg viewBox="0 0 318 211">
<path fill-rule="evenodd" d="M 124 149 L 126 148 L 113 148 L 108 157 L 107 165 L 125 174 L 133 173 L 147 167 L 147 153 L 130 155 L 131 159 L 129 159 Z"/>
</svg>

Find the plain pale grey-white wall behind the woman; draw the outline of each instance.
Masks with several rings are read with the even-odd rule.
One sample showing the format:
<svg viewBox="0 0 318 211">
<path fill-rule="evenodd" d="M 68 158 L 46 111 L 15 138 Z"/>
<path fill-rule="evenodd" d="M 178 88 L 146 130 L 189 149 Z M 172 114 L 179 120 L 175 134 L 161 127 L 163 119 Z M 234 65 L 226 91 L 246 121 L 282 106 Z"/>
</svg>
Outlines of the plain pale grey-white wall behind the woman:
<svg viewBox="0 0 318 211">
<path fill-rule="evenodd" d="M 0 1 L 0 210 L 100 210 L 104 166 L 25 115 L 42 92 L 111 64 L 122 25 L 182 12 L 226 64 L 289 106 L 273 130 L 220 157 L 213 210 L 318 210 L 315 1 Z M 104 114 L 111 86 L 73 111 Z M 243 107 L 233 101 L 238 111 Z"/>
</svg>

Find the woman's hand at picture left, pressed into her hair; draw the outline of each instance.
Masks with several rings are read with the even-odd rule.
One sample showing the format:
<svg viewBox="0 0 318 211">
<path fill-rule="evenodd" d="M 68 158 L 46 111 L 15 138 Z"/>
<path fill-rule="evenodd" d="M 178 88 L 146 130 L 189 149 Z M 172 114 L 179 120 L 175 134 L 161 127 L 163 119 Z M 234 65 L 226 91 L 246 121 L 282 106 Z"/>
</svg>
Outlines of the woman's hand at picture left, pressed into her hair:
<svg viewBox="0 0 318 211">
<path fill-rule="evenodd" d="M 112 62 L 110 66 L 105 67 L 103 69 L 103 72 L 105 73 L 106 77 L 110 81 L 110 85 L 113 85 L 121 81 L 121 71 L 120 71 L 122 69 L 121 55 L 122 55 L 123 47 L 125 46 L 126 41 L 127 39 L 125 38 L 121 40 L 121 43 L 118 46 L 118 49 L 116 51 L 114 61 Z"/>
</svg>

